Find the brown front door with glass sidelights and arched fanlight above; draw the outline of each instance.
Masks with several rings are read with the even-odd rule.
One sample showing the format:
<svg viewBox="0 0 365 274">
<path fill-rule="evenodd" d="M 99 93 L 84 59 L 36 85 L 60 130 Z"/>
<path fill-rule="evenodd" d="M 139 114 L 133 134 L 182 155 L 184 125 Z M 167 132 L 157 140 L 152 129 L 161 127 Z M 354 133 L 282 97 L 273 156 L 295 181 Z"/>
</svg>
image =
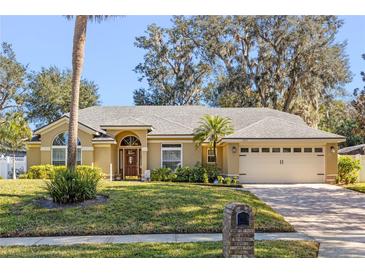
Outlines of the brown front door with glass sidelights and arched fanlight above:
<svg viewBox="0 0 365 274">
<path fill-rule="evenodd" d="M 128 135 L 119 144 L 119 173 L 126 180 L 141 177 L 141 142 L 136 136 Z"/>
</svg>

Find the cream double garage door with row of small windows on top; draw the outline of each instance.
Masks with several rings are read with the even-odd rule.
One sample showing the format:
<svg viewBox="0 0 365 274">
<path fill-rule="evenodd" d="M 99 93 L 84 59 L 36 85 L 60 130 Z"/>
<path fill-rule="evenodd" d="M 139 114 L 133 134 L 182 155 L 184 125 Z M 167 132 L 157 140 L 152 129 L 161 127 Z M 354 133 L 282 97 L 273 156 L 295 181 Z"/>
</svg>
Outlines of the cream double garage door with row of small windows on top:
<svg viewBox="0 0 365 274">
<path fill-rule="evenodd" d="M 323 147 L 241 147 L 241 183 L 323 183 Z"/>
</svg>

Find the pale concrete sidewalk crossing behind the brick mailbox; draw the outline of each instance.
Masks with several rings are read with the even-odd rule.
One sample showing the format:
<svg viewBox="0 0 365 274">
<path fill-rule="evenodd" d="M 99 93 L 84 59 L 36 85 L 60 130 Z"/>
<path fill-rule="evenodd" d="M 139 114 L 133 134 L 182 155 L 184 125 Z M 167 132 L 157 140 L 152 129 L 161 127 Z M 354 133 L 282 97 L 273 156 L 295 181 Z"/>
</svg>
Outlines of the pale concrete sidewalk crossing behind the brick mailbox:
<svg viewBox="0 0 365 274">
<path fill-rule="evenodd" d="M 256 240 L 313 240 L 303 233 L 256 233 Z M 0 246 L 74 245 L 102 243 L 185 243 L 221 241 L 221 233 L 136 234 L 100 236 L 55 236 L 0 238 Z"/>
</svg>

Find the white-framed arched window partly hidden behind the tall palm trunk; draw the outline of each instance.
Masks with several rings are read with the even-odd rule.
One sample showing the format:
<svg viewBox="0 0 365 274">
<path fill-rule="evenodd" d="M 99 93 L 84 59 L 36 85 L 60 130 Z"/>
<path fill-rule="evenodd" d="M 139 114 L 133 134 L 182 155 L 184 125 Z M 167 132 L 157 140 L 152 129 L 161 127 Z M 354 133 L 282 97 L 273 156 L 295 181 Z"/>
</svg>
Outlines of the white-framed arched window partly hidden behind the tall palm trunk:
<svg viewBox="0 0 365 274">
<path fill-rule="evenodd" d="M 64 132 L 56 136 L 52 142 L 52 164 L 55 166 L 66 165 L 67 163 L 67 140 L 68 133 Z M 81 142 L 77 139 L 76 161 L 81 165 Z"/>
</svg>

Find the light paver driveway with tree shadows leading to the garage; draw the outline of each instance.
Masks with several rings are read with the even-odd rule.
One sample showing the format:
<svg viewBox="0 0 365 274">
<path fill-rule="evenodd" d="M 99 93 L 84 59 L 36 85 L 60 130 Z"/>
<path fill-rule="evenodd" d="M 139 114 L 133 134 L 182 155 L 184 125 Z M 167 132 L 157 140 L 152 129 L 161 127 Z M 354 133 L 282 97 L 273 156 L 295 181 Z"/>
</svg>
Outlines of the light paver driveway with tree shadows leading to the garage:
<svg viewBox="0 0 365 274">
<path fill-rule="evenodd" d="M 328 184 L 245 185 L 299 232 L 320 242 L 320 257 L 365 257 L 365 194 Z"/>
</svg>

